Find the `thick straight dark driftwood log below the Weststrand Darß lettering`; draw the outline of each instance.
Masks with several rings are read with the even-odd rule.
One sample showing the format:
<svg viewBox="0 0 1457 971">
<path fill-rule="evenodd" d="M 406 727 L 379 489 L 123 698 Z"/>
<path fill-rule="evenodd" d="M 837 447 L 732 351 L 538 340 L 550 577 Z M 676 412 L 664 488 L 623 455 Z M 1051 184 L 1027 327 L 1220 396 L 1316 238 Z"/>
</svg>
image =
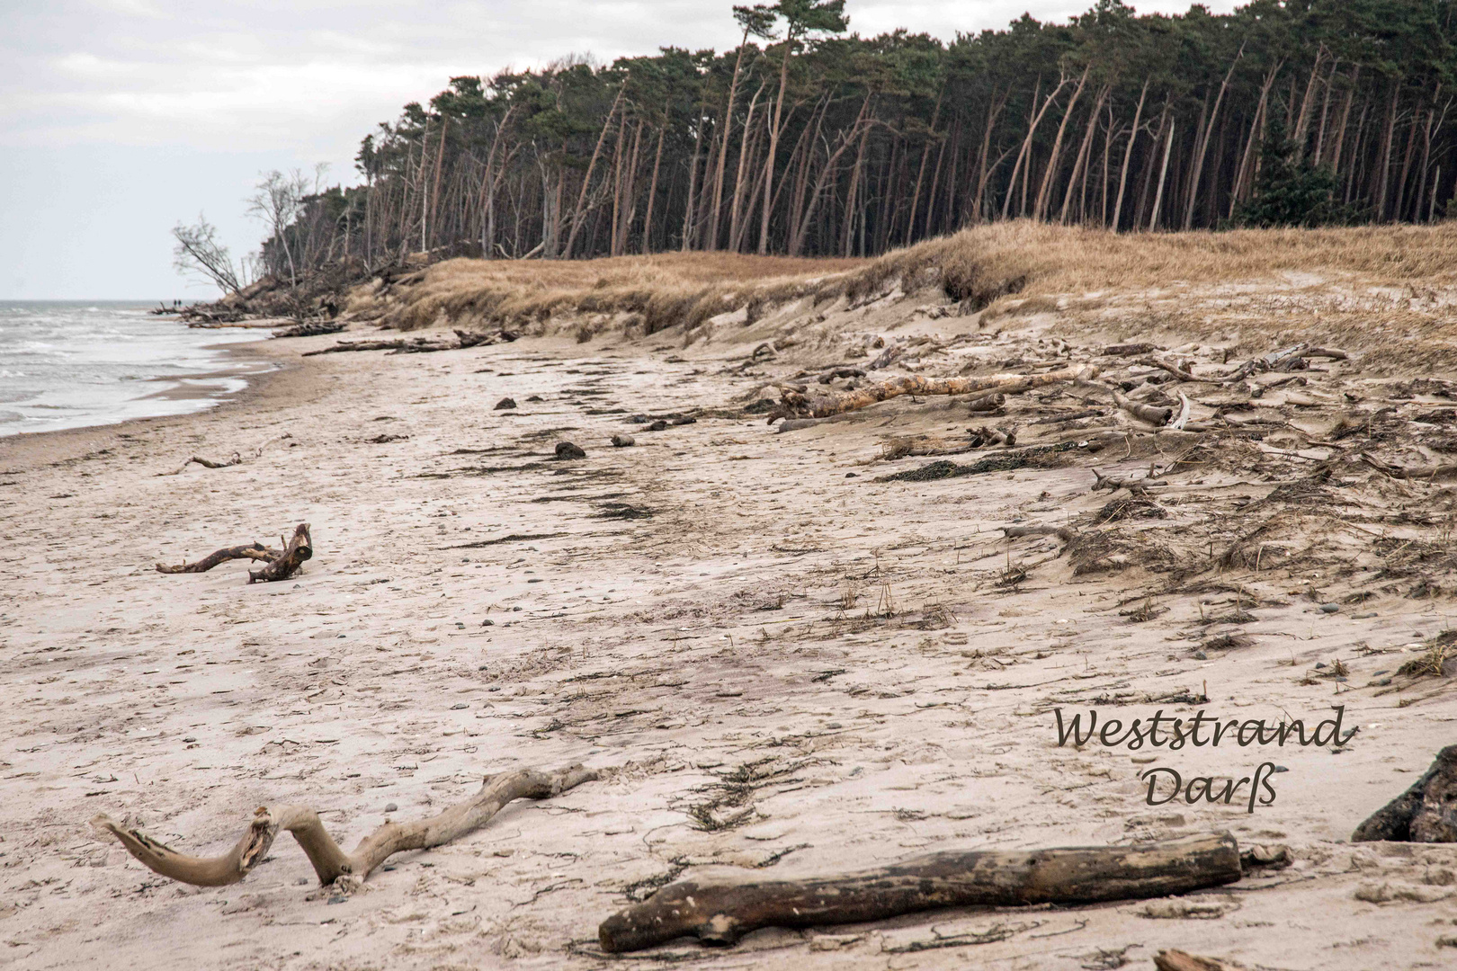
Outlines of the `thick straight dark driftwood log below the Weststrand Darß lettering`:
<svg viewBox="0 0 1457 971">
<path fill-rule="evenodd" d="M 848 924 L 938 907 L 1139 900 L 1237 879 L 1240 850 L 1228 833 L 1145 846 L 931 853 L 836 876 L 672 884 L 608 917 L 597 939 L 610 954 L 685 935 L 727 946 L 769 926 Z"/>
</svg>

